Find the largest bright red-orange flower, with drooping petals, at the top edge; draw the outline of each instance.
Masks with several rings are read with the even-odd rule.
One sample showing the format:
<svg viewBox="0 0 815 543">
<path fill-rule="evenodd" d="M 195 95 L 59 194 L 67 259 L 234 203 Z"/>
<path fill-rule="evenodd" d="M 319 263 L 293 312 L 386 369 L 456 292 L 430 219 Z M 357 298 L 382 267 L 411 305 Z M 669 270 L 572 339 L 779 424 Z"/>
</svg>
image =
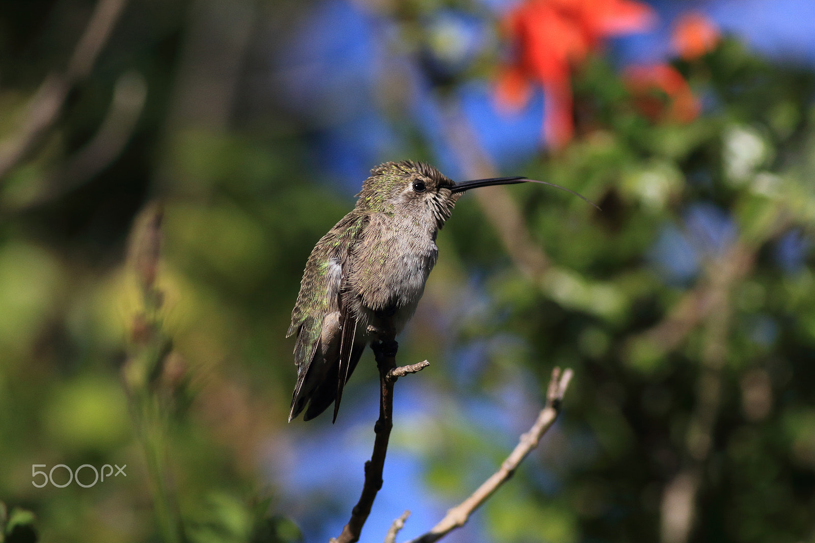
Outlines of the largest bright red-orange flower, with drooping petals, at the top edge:
<svg viewBox="0 0 815 543">
<path fill-rule="evenodd" d="M 653 20 L 652 9 L 636 0 L 525 0 L 504 20 L 517 51 L 501 71 L 499 104 L 522 107 L 531 85 L 543 86 L 544 136 L 552 147 L 562 147 L 574 133 L 572 66 L 603 38 L 646 29 Z"/>
</svg>

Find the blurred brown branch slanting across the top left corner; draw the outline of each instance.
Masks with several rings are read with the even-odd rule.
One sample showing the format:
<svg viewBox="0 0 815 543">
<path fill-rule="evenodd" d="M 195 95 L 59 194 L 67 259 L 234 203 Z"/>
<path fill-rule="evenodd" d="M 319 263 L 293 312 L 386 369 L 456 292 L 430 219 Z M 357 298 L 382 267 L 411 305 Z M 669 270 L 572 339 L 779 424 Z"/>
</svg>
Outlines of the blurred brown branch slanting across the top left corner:
<svg viewBox="0 0 815 543">
<path fill-rule="evenodd" d="M 34 94 L 20 129 L 0 142 L 0 179 L 32 150 L 59 116 L 68 91 L 90 74 L 126 0 L 99 0 L 64 72 L 52 72 Z"/>
</svg>

